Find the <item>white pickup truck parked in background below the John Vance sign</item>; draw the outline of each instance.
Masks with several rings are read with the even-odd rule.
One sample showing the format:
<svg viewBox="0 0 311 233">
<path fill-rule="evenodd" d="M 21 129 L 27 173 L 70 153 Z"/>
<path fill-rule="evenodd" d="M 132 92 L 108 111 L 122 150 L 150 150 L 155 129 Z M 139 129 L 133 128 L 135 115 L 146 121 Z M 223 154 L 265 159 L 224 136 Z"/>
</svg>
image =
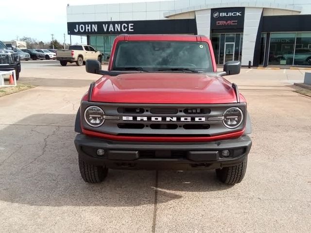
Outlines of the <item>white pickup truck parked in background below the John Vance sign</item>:
<svg viewBox="0 0 311 233">
<path fill-rule="evenodd" d="M 77 66 L 82 66 L 85 65 L 87 59 L 97 59 L 102 62 L 103 54 L 89 45 L 70 45 L 68 50 L 57 50 L 56 53 L 56 60 L 63 67 L 68 62 L 75 62 Z"/>
</svg>

